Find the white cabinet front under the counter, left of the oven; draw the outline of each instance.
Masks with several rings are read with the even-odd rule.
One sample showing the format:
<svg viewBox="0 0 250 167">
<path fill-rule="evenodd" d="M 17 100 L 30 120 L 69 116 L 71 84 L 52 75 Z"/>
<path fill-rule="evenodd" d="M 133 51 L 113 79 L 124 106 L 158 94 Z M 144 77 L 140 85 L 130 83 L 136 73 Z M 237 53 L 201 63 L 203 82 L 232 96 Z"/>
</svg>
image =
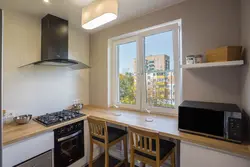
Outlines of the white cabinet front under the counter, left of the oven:
<svg viewBox="0 0 250 167">
<path fill-rule="evenodd" d="M 46 132 L 3 147 L 3 166 L 12 167 L 54 148 L 54 132 Z"/>
</svg>

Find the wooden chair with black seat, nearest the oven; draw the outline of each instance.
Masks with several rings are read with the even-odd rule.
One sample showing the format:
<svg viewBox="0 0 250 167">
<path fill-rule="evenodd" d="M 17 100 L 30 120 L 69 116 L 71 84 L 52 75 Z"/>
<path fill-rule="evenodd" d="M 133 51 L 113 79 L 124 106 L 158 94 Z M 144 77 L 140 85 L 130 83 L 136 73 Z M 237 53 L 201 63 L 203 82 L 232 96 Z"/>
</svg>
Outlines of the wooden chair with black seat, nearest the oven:
<svg viewBox="0 0 250 167">
<path fill-rule="evenodd" d="M 93 165 L 93 145 L 97 144 L 105 150 L 105 167 L 109 167 L 109 148 L 123 140 L 124 160 L 119 162 L 116 167 L 122 165 L 128 166 L 127 153 L 127 132 L 121 129 L 108 127 L 106 121 L 101 121 L 93 117 L 88 117 L 90 133 L 90 157 L 89 167 Z"/>
</svg>

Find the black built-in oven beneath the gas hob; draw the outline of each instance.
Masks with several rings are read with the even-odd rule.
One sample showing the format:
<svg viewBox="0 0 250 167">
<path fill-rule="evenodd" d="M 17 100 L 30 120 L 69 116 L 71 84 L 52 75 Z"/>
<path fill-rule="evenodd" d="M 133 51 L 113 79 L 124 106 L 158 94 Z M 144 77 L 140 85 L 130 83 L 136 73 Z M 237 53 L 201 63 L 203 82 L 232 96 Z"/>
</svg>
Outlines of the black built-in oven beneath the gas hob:
<svg viewBox="0 0 250 167">
<path fill-rule="evenodd" d="M 54 130 L 55 167 L 67 167 L 84 157 L 84 123 L 76 122 Z"/>
</svg>

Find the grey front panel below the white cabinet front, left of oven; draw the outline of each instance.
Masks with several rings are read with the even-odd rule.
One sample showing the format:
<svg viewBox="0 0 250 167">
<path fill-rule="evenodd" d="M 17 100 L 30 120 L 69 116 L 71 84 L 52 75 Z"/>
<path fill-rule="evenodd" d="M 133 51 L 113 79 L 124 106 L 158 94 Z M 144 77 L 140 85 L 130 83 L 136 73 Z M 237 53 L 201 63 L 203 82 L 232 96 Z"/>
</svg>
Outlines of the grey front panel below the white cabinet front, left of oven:
<svg viewBox="0 0 250 167">
<path fill-rule="evenodd" d="M 48 151 L 16 167 L 52 167 L 52 151 Z"/>
</svg>

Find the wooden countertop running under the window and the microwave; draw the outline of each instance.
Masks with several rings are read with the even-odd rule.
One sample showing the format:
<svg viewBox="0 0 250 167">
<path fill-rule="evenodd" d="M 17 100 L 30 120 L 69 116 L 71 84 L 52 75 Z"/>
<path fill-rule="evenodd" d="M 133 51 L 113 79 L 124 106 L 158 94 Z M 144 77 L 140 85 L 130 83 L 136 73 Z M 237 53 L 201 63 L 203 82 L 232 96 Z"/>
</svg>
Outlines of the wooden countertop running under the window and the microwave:
<svg viewBox="0 0 250 167">
<path fill-rule="evenodd" d="M 226 152 L 250 157 L 250 146 L 246 144 L 235 144 L 222 140 L 211 139 L 203 136 L 183 133 L 178 130 L 178 118 L 152 115 L 154 121 L 146 122 L 148 114 L 139 111 L 125 111 L 117 109 L 100 109 L 88 107 L 83 113 L 105 120 L 107 122 L 121 126 L 135 126 L 142 129 L 158 131 L 161 136 L 170 137 L 182 141 L 192 142 Z M 121 113 L 121 116 L 115 116 L 114 113 Z"/>
</svg>

